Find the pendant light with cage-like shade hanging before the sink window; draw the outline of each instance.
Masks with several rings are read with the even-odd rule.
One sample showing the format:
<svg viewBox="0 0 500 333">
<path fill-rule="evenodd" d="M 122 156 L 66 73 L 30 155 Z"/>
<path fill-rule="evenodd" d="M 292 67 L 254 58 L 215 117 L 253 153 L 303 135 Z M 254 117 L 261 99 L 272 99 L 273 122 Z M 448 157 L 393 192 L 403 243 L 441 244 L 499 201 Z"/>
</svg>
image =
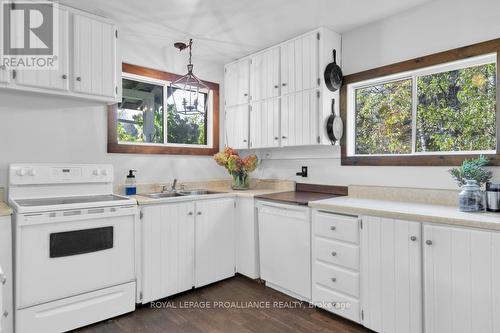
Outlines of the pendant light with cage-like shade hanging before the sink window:
<svg viewBox="0 0 500 333">
<path fill-rule="evenodd" d="M 189 49 L 187 74 L 170 83 L 169 93 L 173 97 L 175 111 L 183 115 L 204 114 L 210 88 L 193 74 L 193 40 L 190 39 L 189 44 L 175 43 L 174 47 L 179 51 Z"/>
</svg>

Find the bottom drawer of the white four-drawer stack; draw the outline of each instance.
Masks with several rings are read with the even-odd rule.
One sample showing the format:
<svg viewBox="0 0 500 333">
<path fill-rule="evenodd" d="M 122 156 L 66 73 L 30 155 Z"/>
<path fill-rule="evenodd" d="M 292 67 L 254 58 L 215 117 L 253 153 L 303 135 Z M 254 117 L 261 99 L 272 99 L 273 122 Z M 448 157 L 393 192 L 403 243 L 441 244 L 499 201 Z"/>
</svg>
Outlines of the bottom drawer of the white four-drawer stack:
<svg viewBox="0 0 500 333">
<path fill-rule="evenodd" d="M 313 286 L 313 304 L 339 316 L 360 322 L 359 300 L 322 286 Z"/>
</svg>

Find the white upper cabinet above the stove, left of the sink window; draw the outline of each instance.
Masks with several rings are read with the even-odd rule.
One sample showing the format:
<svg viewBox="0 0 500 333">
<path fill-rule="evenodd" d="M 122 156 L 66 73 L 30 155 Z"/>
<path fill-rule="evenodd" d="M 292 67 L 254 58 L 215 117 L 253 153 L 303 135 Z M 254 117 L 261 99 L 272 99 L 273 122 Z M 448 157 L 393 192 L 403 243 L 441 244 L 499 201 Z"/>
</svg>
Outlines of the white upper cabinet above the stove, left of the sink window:
<svg viewBox="0 0 500 333">
<path fill-rule="evenodd" d="M 114 103 L 117 101 L 117 30 L 107 19 L 58 6 L 57 66 L 0 68 L 1 87 Z M 15 18 L 14 18 L 15 19 Z M 13 29 L 22 31 L 23 22 Z M 20 35 L 17 33 L 17 35 Z M 34 42 L 41 43 L 39 40 Z"/>
</svg>

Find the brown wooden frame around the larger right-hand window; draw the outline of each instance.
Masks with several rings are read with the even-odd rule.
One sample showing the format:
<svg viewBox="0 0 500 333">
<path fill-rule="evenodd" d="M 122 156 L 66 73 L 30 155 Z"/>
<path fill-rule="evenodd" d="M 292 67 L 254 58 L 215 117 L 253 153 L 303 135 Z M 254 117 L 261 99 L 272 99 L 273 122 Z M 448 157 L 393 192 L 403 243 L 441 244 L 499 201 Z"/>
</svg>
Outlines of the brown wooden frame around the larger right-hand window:
<svg viewBox="0 0 500 333">
<path fill-rule="evenodd" d="M 464 60 L 489 53 L 497 54 L 497 82 L 496 82 L 496 128 L 497 147 L 495 154 L 483 154 L 490 159 L 491 165 L 500 165 L 500 38 L 473 44 L 457 49 L 439 52 L 392 65 L 378 67 L 344 77 L 340 90 L 340 115 L 347 120 L 347 86 L 352 83 L 366 81 L 384 76 L 394 75 L 425 67 L 441 65 L 448 62 Z M 346 132 L 349 126 L 346 126 Z M 466 159 L 476 158 L 478 154 L 429 154 L 429 155 L 389 155 L 389 156 L 348 156 L 346 133 L 341 141 L 341 165 L 360 166 L 455 166 L 461 165 Z"/>
</svg>

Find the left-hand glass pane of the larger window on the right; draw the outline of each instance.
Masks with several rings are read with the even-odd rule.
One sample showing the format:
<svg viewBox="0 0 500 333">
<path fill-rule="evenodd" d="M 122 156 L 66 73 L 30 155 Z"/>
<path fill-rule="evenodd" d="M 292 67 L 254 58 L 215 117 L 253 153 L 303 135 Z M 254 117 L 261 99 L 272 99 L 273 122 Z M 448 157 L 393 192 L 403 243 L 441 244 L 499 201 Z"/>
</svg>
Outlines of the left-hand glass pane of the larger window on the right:
<svg viewBox="0 0 500 333">
<path fill-rule="evenodd" d="M 412 81 L 356 89 L 356 154 L 412 152 Z"/>
</svg>

